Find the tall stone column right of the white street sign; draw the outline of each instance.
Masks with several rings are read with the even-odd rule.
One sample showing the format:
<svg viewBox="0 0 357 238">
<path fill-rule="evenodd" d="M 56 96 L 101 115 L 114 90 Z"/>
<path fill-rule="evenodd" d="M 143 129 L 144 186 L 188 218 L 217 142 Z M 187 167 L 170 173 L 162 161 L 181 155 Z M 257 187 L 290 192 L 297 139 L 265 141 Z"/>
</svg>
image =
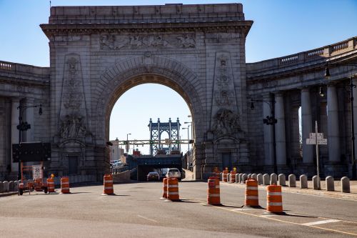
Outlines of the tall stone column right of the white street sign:
<svg viewBox="0 0 357 238">
<path fill-rule="evenodd" d="M 338 102 L 336 87 L 334 85 L 327 87 L 327 132 L 328 160 L 330 162 L 339 162 L 341 152 L 338 128 Z"/>
</svg>

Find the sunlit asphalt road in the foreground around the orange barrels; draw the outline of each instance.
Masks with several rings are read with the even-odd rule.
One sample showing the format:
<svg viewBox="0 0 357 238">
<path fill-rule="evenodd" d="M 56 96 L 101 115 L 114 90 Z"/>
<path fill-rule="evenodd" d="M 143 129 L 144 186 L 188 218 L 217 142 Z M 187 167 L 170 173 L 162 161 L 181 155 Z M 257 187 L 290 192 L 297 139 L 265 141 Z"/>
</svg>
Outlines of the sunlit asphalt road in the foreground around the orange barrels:
<svg viewBox="0 0 357 238">
<path fill-rule="evenodd" d="M 221 183 L 222 206 L 206 205 L 205 182 L 181 182 L 181 202 L 160 199 L 162 184 L 71 188 L 0 197 L 0 237 L 357 237 L 357 202 L 283 192 L 286 215 L 245 209 L 244 187 Z M 266 207 L 266 192 L 259 203 Z"/>
</svg>

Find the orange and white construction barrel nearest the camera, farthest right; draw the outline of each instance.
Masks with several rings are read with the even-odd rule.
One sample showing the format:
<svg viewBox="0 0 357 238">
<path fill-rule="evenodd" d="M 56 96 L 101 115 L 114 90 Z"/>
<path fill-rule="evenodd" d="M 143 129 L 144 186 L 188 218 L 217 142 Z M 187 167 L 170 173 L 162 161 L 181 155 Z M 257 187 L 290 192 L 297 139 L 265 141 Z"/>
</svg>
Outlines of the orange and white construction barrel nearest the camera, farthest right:
<svg viewBox="0 0 357 238">
<path fill-rule="evenodd" d="M 266 212 L 283 213 L 283 198 L 280 185 L 266 187 Z"/>
</svg>

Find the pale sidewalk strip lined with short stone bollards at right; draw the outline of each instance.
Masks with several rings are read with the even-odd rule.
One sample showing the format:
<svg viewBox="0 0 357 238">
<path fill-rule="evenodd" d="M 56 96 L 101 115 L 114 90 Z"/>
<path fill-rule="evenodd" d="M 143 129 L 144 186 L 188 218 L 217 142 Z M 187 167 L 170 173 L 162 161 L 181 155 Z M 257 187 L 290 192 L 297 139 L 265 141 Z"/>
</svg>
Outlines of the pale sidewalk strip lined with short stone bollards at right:
<svg viewBox="0 0 357 238">
<path fill-rule="evenodd" d="M 238 183 L 225 183 L 221 182 L 224 184 L 230 184 L 230 185 L 235 185 L 238 187 L 246 187 L 246 184 L 238 184 Z M 312 189 L 313 183 L 312 181 L 308 181 L 308 189 L 300 189 L 300 182 L 296 181 L 296 187 L 287 187 L 283 186 L 281 189 L 283 192 L 291 192 L 291 193 L 297 193 L 297 194 L 311 194 L 315 196 L 321 196 L 321 197 L 332 197 L 332 198 L 338 198 L 338 199 L 348 199 L 348 200 L 353 200 L 357 202 L 357 181 L 350 181 L 350 193 L 345 193 L 341 192 L 341 181 L 335 181 L 335 191 L 327 191 L 326 190 L 326 182 L 321 180 L 321 190 L 315 190 Z M 259 185 L 259 189 L 266 189 L 266 185 Z"/>
</svg>

